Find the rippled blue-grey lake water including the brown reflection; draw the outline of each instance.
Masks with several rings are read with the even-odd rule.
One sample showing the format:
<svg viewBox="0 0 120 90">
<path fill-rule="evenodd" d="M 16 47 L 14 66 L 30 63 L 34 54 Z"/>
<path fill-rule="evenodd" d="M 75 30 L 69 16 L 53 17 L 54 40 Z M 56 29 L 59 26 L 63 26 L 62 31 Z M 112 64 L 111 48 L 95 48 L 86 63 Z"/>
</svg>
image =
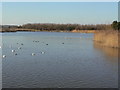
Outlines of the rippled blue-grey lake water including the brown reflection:
<svg viewBox="0 0 120 90">
<path fill-rule="evenodd" d="M 117 88 L 118 50 L 97 46 L 93 35 L 3 33 L 3 88 Z"/>
</svg>

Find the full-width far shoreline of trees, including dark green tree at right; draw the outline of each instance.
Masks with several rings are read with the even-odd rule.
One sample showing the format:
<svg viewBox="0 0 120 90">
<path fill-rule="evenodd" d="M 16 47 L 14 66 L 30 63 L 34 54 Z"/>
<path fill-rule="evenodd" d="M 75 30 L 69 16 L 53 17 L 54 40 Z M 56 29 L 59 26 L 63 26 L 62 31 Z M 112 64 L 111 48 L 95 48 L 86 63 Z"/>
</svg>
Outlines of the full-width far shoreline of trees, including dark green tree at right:
<svg viewBox="0 0 120 90">
<path fill-rule="evenodd" d="M 3 31 L 16 31 L 17 29 L 32 29 L 37 31 L 72 31 L 72 30 L 120 30 L 120 22 L 113 21 L 112 24 L 53 24 L 53 23 L 34 23 L 17 25 L 3 25 Z"/>
</svg>

